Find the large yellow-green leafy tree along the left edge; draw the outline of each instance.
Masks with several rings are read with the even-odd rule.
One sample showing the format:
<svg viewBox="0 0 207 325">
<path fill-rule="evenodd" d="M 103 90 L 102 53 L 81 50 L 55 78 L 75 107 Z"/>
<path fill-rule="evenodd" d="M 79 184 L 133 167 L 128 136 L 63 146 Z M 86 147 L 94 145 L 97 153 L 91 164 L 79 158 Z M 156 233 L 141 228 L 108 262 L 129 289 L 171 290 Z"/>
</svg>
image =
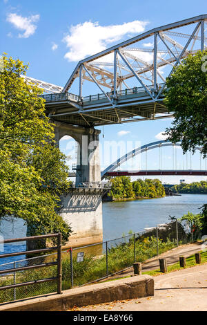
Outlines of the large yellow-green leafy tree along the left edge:
<svg viewBox="0 0 207 325">
<path fill-rule="evenodd" d="M 57 214 L 66 192 L 68 167 L 55 145 L 54 127 L 45 114 L 41 90 L 27 84 L 28 66 L 3 56 L 0 72 L 0 221 L 26 221 L 30 235 L 71 229 Z"/>
</svg>

